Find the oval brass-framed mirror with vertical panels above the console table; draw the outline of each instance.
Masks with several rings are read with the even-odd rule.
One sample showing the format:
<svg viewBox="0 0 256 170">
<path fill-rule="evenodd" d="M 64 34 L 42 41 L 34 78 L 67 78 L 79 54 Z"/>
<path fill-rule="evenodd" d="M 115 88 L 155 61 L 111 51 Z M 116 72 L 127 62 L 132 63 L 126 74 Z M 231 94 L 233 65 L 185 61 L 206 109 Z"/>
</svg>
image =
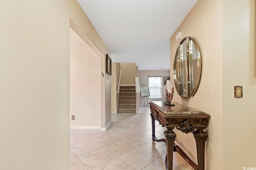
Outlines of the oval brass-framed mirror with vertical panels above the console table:
<svg viewBox="0 0 256 170">
<path fill-rule="evenodd" d="M 202 71 L 201 53 L 192 37 L 183 38 L 177 48 L 173 78 L 178 94 L 183 98 L 193 96 L 200 83 Z"/>
</svg>

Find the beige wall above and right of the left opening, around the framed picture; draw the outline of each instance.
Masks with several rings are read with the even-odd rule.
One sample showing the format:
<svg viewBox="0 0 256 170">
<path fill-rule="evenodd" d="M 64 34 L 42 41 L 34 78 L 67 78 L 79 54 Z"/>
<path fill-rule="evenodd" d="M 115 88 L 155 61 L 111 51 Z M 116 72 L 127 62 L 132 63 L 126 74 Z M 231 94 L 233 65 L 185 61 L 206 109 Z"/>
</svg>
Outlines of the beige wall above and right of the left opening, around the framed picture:
<svg viewBox="0 0 256 170">
<path fill-rule="evenodd" d="M 70 7 L 70 28 L 78 34 L 84 42 L 89 45 L 100 58 L 100 72 L 104 74 L 100 79 L 101 94 L 101 128 L 104 130 L 111 120 L 111 78 L 107 78 L 106 73 L 106 54 L 110 55 L 100 36 L 96 32 L 89 18 L 82 10 L 76 0 L 69 2 Z M 111 56 L 111 55 L 110 55 Z M 111 76 L 110 76 L 111 77 Z"/>
</svg>

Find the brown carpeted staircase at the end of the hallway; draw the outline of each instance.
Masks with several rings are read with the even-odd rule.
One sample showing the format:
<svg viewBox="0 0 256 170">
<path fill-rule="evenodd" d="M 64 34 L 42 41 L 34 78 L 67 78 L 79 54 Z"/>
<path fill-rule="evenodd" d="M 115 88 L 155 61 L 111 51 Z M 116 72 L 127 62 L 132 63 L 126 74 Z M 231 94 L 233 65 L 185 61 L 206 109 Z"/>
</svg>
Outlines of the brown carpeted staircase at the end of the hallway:
<svg viewBox="0 0 256 170">
<path fill-rule="evenodd" d="M 120 86 L 117 113 L 136 113 L 135 86 Z"/>
</svg>

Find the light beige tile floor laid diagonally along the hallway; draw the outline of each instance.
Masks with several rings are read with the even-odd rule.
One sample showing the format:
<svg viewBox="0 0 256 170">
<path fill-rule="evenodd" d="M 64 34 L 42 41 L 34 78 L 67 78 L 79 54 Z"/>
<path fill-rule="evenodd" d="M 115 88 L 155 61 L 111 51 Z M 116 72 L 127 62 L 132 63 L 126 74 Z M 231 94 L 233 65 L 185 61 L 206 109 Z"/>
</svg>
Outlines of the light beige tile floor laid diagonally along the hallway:
<svg viewBox="0 0 256 170">
<path fill-rule="evenodd" d="M 165 127 L 156 121 L 156 137 Z M 165 170 L 166 146 L 154 142 L 149 107 L 112 114 L 106 131 L 70 129 L 70 170 Z M 174 152 L 173 170 L 193 170 Z"/>
</svg>

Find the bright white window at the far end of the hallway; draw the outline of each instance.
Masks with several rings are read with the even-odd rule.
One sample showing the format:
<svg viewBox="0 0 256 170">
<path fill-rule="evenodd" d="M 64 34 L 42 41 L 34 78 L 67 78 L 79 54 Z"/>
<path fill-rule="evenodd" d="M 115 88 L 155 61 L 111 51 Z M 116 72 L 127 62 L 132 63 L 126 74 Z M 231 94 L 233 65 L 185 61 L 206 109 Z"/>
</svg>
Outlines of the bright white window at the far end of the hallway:
<svg viewBox="0 0 256 170">
<path fill-rule="evenodd" d="M 150 92 L 149 98 L 162 98 L 162 77 L 148 77 L 148 88 Z"/>
</svg>

